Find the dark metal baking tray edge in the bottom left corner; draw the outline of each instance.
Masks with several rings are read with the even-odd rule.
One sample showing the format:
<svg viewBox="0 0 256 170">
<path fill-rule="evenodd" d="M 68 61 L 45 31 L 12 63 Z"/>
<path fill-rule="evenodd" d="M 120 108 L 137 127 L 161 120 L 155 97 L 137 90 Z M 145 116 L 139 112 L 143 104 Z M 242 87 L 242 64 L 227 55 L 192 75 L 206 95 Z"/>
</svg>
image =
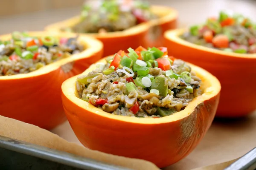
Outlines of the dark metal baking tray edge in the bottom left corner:
<svg viewBox="0 0 256 170">
<path fill-rule="evenodd" d="M 0 136 L 0 170 L 131 170 Z"/>
</svg>

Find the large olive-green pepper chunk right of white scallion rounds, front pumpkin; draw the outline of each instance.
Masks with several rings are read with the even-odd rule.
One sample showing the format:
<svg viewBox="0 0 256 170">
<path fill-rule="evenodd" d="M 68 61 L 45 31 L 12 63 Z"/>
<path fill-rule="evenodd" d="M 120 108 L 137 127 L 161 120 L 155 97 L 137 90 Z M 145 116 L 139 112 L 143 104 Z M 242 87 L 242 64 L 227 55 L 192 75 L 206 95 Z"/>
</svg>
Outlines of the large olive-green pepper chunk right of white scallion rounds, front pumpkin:
<svg viewBox="0 0 256 170">
<path fill-rule="evenodd" d="M 165 97 L 167 95 L 168 85 L 165 85 L 165 77 L 156 77 L 152 81 L 151 89 L 156 89 L 159 91 L 159 96 Z"/>
</svg>

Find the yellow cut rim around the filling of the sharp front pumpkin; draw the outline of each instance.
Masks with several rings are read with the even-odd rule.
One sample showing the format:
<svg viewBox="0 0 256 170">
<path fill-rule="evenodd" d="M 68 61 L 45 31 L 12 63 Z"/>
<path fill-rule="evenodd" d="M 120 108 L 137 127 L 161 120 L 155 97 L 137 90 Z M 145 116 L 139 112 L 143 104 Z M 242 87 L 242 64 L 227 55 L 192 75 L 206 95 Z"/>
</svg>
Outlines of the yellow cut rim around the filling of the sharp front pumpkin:
<svg viewBox="0 0 256 170">
<path fill-rule="evenodd" d="M 99 60 L 96 63 L 99 63 L 99 62 L 106 63 L 105 58 Z M 88 72 L 95 69 L 96 63 L 91 65 L 86 71 L 84 71 L 84 73 L 71 77 L 70 79 L 67 79 L 66 81 L 64 81 L 64 83 L 61 86 L 62 93 L 64 96 L 67 97 L 67 99 L 70 100 L 70 102 L 73 102 L 75 105 L 77 105 L 80 108 L 83 108 L 85 111 L 86 110 L 92 111 L 93 113 L 99 116 L 103 116 L 109 119 L 115 119 L 117 121 L 139 123 L 139 124 L 160 124 L 160 123 L 167 123 L 167 122 L 175 122 L 177 120 L 185 118 L 186 116 L 189 116 L 198 105 L 200 105 L 201 103 L 203 103 L 208 99 L 211 99 L 214 96 L 217 96 L 221 90 L 221 84 L 215 76 L 213 76 L 203 68 L 200 68 L 198 66 L 195 66 L 187 62 L 192 67 L 192 71 L 195 71 L 197 76 L 202 79 L 202 82 L 204 82 L 201 85 L 202 89 L 204 89 L 204 93 L 201 96 L 198 96 L 195 99 L 193 99 L 191 102 L 189 102 L 189 105 L 186 106 L 186 108 L 183 111 L 174 113 L 170 116 L 161 117 L 159 119 L 136 118 L 136 117 L 113 115 L 111 113 L 107 113 L 105 111 L 102 111 L 99 108 L 94 107 L 93 105 L 91 105 L 88 102 L 85 102 L 82 99 L 79 99 L 78 93 L 76 91 L 77 77 L 79 77 L 80 75 L 87 74 Z"/>
</svg>

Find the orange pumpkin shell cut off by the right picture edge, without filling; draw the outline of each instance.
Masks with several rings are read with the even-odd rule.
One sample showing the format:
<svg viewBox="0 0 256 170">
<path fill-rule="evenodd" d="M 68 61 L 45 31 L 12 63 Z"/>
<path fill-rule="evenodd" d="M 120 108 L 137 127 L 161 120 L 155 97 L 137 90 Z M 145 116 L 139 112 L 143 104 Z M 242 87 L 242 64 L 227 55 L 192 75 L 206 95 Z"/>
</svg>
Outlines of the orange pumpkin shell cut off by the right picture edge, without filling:
<svg viewBox="0 0 256 170">
<path fill-rule="evenodd" d="M 206 69 L 221 82 L 216 116 L 239 117 L 256 109 L 256 54 L 236 54 L 195 45 L 179 36 L 179 29 L 165 33 L 168 54 Z"/>
</svg>

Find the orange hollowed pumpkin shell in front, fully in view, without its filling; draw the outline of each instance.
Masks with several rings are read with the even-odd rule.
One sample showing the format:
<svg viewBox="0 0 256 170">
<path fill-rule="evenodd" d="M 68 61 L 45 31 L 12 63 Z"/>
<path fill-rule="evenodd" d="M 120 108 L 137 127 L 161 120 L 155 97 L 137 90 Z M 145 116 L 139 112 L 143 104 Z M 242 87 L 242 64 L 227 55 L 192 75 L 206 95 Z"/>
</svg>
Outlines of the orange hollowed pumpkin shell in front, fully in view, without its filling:
<svg viewBox="0 0 256 170">
<path fill-rule="evenodd" d="M 218 106 L 221 89 L 218 79 L 202 68 L 191 66 L 203 81 L 203 94 L 183 111 L 159 119 L 113 115 L 78 98 L 76 76 L 61 86 L 67 119 L 79 141 L 90 149 L 145 159 L 166 167 L 197 146 Z M 84 74 L 94 68 L 92 65 Z"/>
</svg>

